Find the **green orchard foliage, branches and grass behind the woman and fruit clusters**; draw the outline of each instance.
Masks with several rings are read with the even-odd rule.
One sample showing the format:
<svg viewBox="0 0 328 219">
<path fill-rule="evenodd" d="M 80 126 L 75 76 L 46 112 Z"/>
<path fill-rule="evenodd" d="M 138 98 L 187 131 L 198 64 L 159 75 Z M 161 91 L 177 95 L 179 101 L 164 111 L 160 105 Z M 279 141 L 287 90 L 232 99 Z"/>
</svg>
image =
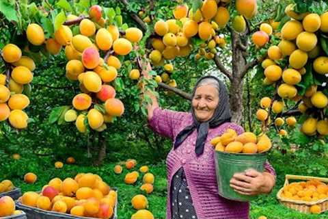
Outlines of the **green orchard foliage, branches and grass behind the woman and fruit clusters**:
<svg viewBox="0 0 328 219">
<path fill-rule="evenodd" d="M 118 218 L 130 218 L 135 213 L 131 198 L 141 194 L 139 187 L 142 183 L 141 180 L 134 185 L 124 183 L 124 176 L 131 171 L 126 170 L 124 162 L 126 159 L 135 159 L 137 166 L 133 170 L 147 165 L 155 176 L 154 192 L 146 195 L 149 210 L 155 218 L 165 218 L 167 196 L 165 157 L 172 147 L 172 142 L 155 135 L 148 128 L 145 106 L 149 98 L 144 95 L 144 91 L 156 88 L 161 107 L 188 111 L 189 93 L 195 81 L 203 75 L 216 75 L 225 81 L 230 89 L 234 122 L 254 133 L 266 131 L 273 141 L 269 161 L 277 171 L 277 184 L 269 196 L 259 196 L 256 201 L 251 202 L 251 218 L 262 215 L 267 218 L 328 218 L 327 213 L 315 216 L 292 211 L 280 205 L 275 197 L 284 184 L 286 174 L 327 177 L 328 144 L 325 135 L 321 131 L 316 134 L 316 129 L 314 132 L 308 131 L 308 135 L 300 131 L 310 115 L 324 120 L 325 107 L 324 110 L 320 110 L 323 107 L 318 109 L 313 107 L 314 110 L 301 114 L 303 108 L 298 110 L 301 97 L 297 99 L 296 94 L 288 96 L 290 92 L 284 96 L 274 86 L 265 85 L 269 83 L 263 80 L 267 73 L 264 73 L 265 64 L 262 63 L 267 58 L 268 49 L 279 44 L 282 27 L 290 20 L 290 16 L 293 16 L 290 15 L 291 11 L 294 10 L 299 16 L 304 12 L 320 15 L 328 11 L 327 3 L 324 1 L 304 3 L 297 0 L 257 1 L 257 13 L 246 14 L 243 18 L 240 16 L 241 12 L 236 10 L 236 1 L 218 2 L 219 6 L 228 11 L 227 23 L 212 23 L 214 34 L 210 31 L 209 37 L 202 34 L 191 36 L 187 46 L 184 47 L 186 50 L 173 51 L 180 54 L 175 54 L 173 57 L 167 55 L 161 60 L 161 57 L 156 57 L 157 54 L 152 53 L 154 39 L 161 41 L 163 38 L 158 36 L 155 23 L 161 19 L 163 21 L 174 19 L 178 16 L 174 14 L 174 10 L 178 5 L 184 4 L 189 6 L 189 17 L 193 16 L 193 20 L 197 20 L 197 10 L 202 10 L 202 1 L 1 1 L 0 49 L 9 43 L 16 44 L 22 49 L 23 55 L 33 59 L 36 68 L 33 70 L 33 80 L 26 83 L 23 88 L 23 94 L 28 96 L 30 102 L 24 110 L 29 117 L 28 126 L 24 129 L 16 129 L 8 120 L 0 122 L 0 180 L 10 179 L 14 185 L 22 188 L 23 192 L 27 192 L 40 190 L 55 177 L 64 179 L 74 177 L 79 172 L 93 172 L 100 175 L 109 185 L 118 188 Z M 286 7 L 290 4 L 294 4 L 294 8 L 286 10 L 285 13 Z M 66 112 L 73 109 L 72 99 L 80 93 L 81 89 L 79 80 L 70 78 L 66 73 L 68 58 L 64 47 L 60 51 L 51 52 L 51 49 L 44 44 L 33 45 L 29 42 L 31 40 L 27 40 L 25 31 L 30 23 L 37 23 L 44 30 L 46 39 L 55 38 L 55 31 L 66 22 L 69 14 L 87 16 L 92 5 L 102 7 L 102 18 L 105 21 L 103 25 L 106 27 L 116 25 L 120 30 L 120 37 L 124 38 L 126 34 L 124 31 L 128 27 L 137 27 L 143 32 L 143 38 L 133 44 L 133 50 L 127 55 L 117 55 L 122 66 L 118 69 L 118 77 L 109 81 L 115 88 L 115 98 L 124 103 L 124 114 L 116 117 L 113 123 L 107 123 L 107 128 L 103 131 L 96 131 L 86 124 L 85 133 L 81 133 L 74 123 L 66 122 L 64 118 Z M 190 15 L 191 11 L 195 15 Z M 221 19 L 223 18 L 219 18 L 218 21 L 222 21 Z M 80 21 L 70 26 L 73 36 L 81 31 Z M 176 21 L 175 25 L 178 29 L 182 29 L 183 22 L 181 19 Z M 95 23 L 96 29 L 102 27 L 102 24 Z M 254 44 L 257 43 L 254 40 L 256 38 L 254 33 L 260 30 L 262 23 L 271 25 L 273 34 L 268 34 L 269 38 L 259 46 Z M 317 36 L 321 48 L 318 54 L 327 56 L 325 43 L 328 34 L 322 31 L 318 32 Z M 90 38 L 95 42 L 93 37 Z M 297 46 L 299 47 L 299 44 Z M 105 62 L 107 62 L 105 57 L 113 54 L 112 50 L 100 51 L 100 57 L 103 57 Z M 283 70 L 288 68 L 288 58 L 279 57 L 278 54 L 277 60 L 274 60 L 275 53 L 271 56 L 271 60 L 279 64 Z M 152 79 L 143 77 L 142 74 L 141 77 L 131 76 L 132 69 L 139 68 L 141 73 L 141 68 L 144 66 L 140 66 L 140 63 L 146 62 L 152 64 L 152 71 L 150 71 Z M 172 64 L 173 70 L 169 69 L 170 67 L 163 68 L 161 62 Z M 297 96 L 306 96 L 305 92 L 314 84 L 318 85 L 324 94 L 327 93 L 325 85 L 321 86 L 326 80 L 325 77 L 316 76 L 314 73 L 312 77 L 313 62 L 314 59 L 309 59 L 308 62 L 305 61 L 308 64 L 303 65 L 307 73 L 301 81 L 297 81 Z M 11 68 L 4 59 L 0 60 L 0 73 L 6 75 Z M 157 77 L 155 81 L 156 75 L 161 76 L 161 79 Z M 9 81 L 5 81 L 3 85 L 8 83 Z M 280 83 L 282 80 L 277 80 L 276 88 Z M 12 92 L 12 89 L 10 91 Z M 284 111 L 275 114 L 269 110 L 269 116 L 264 115 L 263 118 L 258 108 L 264 96 L 278 101 L 283 97 Z M 105 110 L 105 106 L 100 102 L 95 103 L 94 107 L 100 112 Z M 274 123 L 276 118 L 286 116 L 297 118 L 295 127 L 286 124 L 281 127 L 279 122 Z M 259 122 L 256 117 L 262 121 Z M 14 154 L 19 154 L 19 157 L 14 159 Z M 74 157 L 76 162 L 64 164 L 62 168 L 55 168 L 55 162 L 65 163 L 67 157 Z M 120 175 L 113 171 L 117 164 L 124 164 Z M 35 173 L 38 180 L 33 184 L 25 183 L 23 180 L 27 172 Z"/>
</svg>

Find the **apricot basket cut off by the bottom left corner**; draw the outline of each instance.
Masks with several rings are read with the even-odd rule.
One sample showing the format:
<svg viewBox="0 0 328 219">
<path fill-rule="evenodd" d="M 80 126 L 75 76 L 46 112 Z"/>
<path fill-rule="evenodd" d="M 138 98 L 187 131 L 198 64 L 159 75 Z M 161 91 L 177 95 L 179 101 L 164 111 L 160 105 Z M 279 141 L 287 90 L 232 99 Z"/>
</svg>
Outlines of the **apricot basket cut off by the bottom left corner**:
<svg viewBox="0 0 328 219">
<path fill-rule="evenodd" d="M 0 218 L 1 219 L 26 219 L 24 211 L 16 210 L 16 205 L 12 197 L 2 196 L 0 198 Z"/>
</svg>

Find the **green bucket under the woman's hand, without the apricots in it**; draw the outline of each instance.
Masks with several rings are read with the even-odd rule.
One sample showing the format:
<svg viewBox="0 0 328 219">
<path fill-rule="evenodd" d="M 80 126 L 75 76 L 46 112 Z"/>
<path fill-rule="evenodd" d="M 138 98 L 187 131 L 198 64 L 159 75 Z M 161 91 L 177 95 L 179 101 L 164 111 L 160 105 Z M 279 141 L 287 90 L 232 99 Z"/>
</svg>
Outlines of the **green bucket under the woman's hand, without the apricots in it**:
<svg viewBox="0 0 328 219">
<path fill-rule="evenodd" d="M 236 172 L 244 172 L 249 168 L 263 172 L 267 153 L 225 153 L 215 151 L 215 171 L 219 195 L 234 201 L 251 201 L 256 196 L 247 196 L 235 192 L 230 187 L 230 179 Z"/>
</svg>

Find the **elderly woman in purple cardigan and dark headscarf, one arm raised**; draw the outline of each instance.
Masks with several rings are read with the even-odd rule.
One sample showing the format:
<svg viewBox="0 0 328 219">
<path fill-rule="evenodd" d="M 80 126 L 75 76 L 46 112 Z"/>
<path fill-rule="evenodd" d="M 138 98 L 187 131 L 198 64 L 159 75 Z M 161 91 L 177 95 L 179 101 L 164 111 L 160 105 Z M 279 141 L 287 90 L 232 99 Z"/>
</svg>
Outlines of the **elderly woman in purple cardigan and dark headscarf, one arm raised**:
<svg viewBox="0 0 328 219">
<path fill-rule="evenodd" d="M 234 129 L 226 86 L 216 77 L 197 81 L 192 94 L 191 112 L 162 110 L 154 95 L 148 105 L 150 127 L 171 138 L 174 147 L 167 155 L 167 219 L 249 218 L 249 203 L 230 201 L 219 196 L 215 175 L 215 149 L 210 140 Z M 236 173 L 230 186 L 241 194 L 271 192 L 275 170 L 266 162 L 264 172 L 248 170 Z"/>
</svg>

